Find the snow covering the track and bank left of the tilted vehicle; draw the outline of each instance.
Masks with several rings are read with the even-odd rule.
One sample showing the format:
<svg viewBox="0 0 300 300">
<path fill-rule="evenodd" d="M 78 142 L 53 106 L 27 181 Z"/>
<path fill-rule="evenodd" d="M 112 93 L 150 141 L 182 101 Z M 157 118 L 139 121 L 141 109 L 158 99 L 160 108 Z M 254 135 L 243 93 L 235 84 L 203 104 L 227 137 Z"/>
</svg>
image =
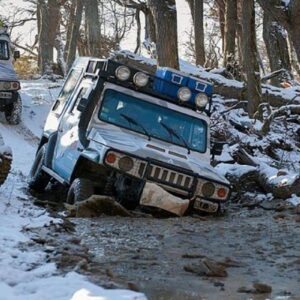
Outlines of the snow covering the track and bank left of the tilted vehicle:
<svg viewBox="0 0 300 300">
<path fill-rule="evenodd" d="M 37 136 L 59 87 L 45 80 L 22 82 L 23 124 L 10 126 L 0 116 L 0 133 L 13 151 L 11 174 L 0 187 L 0 300 L 108 300 L 146 299 L 128 290 L 106 290 L 84 276 L 58 274 L 55 264 L 46 263 L 46 253 L 20 248 L 28 242 L 25 228 L 42 227 L 52 219 L 32 205 L 26 195 L 26 177 L 37 147 Z"/>
</svg>

